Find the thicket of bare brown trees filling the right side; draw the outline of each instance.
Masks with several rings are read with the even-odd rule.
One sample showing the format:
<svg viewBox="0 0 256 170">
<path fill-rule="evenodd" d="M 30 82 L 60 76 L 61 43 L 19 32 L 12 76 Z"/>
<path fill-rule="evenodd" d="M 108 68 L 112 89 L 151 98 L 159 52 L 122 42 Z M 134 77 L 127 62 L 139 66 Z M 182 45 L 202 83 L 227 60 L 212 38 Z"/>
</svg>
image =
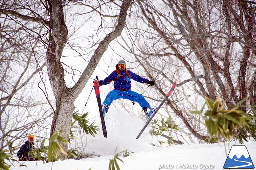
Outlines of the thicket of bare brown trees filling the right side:
<svg viewBox="0 0 256 170">
<path fill-rule="evenodd" d="M 156 91 L 145 96 L 163 98 L 178 81 L 166 102 L 171 110 L 162 116 L 171 115 L 180 128 L 204 140 L 202 122 L 188 111 L 200 110 L 205 96 L 214 101 L 221 94 L 227 108 L 249 96 L 243 110 L 256 114 L 254 2 L 138 0 L 134 6 L 131 17 L 137 22 L 128 22 L 130 42 L 120 44 L 133 56 L 128 61 L 139 62 L 134 68 L 156 81 Z"/>
</svg>

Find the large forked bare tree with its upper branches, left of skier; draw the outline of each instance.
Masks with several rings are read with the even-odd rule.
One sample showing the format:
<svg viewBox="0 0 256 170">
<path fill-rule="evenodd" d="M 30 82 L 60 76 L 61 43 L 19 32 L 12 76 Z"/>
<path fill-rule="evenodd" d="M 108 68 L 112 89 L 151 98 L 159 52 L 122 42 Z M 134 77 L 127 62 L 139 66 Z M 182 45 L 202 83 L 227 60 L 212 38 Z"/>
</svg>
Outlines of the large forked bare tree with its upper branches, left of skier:
<svg viewBox="0 0 256 170">
<path fill-rule="evenodd" d="M 54 116 L 51 134 L 63 129 L 62 135 L 64 136 L 64 139 L 68 139 L 74 101 L 85 87 L 85 84 L 92 75 L 97 63 L 101 59 L 103 53 L 107 50 L 109 43 L 121 34 L 126 24 L 127 10 L 131 7 L 132 2 L 132 0 L 118 2 L 85 1 L 85 3 L 76 0 L 24 0 L 19 2 L 4 1 L 2 3 L 2 6 L 4 7 L 0 9 L 0 14 L 10 17 L 16 23 L 15 26 L 31 22 L 29 25 L 31 28 L 27 29 L 27 27 L 21 27 L 20 29 L 29 32 L 29 34 L 34 34 L 34 38 L 40 40 L 40 45 L 38 46 L 42 46 L 42 51 L 47 49 L 45 61 L 49 82 L 53 90 L 56 104 L 53 106 Z M 82 8 L 87 9 L 88 11 L 81 13 L 79 10 Z M 72 9 L 74 10 L 74 14 L 69 15 L 70 10 Z M 67 10 L 66 13 L 65 10 Z M 108 12 L 109 14 L 107 14 Z M 97 47 L 95 49 L 91 48 L 91 51 L 94 53 L 92 56 L 87 56 L 87 67 L 79 75 L 76 84 L 72 88 L 68 88 L 65 82 L 65 70 L 61 62 L 61 57 L 66 45 L 70 45 L 73 50 L 75 47 L 68 42 L 69 29 L 66 23 L 71 23 L 74 20 L 72 16 L 86 14 L 89 15 L 89 18 L 92 17 L 91 15 L 98 15 L 101 18 L 101 22 L 99 22 L 100 25 L 97 29 L 98 35 L 103 34 L 103 30 L 108 33 L 104 33 L 105 35 L 103 34 L 104 36 L 102 39 L 100 38 L 100 40 L 96 41 L 97 43 L 93 43 L 93 47 L 95 45 L 97 45 Z M 69 16 L 68 21 L 66 21 L 67 19 L 65 18 L 67 16 Z M 105 28 L 104 25 L 102 25 L 104 23 L 104 17 L 115 18 L 115 23 L 113 23 L 112 26 L 107 26 L 107 28 Z M 38 26 L 43 28 L 43 32 L 40 33 L 38 30 L 34 29 L 33 23 L 38 23 Z M 88 23 L 88 25 L 90 24 L 92 23 Z M 69 28 L 71 28 L 71 26 Z M 111 31 L 109 31 L 110 28 L 112 29 Z M 76 27 L 73 30 L 76 30 Z M 61 146 L 67 151 L 67 145 L 65 143 L 61 143 Z M 65 155 L 62 154 L 60 159 L 65 159 Z"/>
</svg>

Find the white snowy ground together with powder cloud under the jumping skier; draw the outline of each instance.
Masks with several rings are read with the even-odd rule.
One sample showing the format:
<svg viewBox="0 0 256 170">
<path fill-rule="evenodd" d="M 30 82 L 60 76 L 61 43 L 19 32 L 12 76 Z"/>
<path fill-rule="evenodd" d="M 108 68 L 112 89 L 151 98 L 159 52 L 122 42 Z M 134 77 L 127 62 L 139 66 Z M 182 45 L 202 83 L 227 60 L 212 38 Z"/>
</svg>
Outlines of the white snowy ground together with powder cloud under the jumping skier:
<svg viewBox="0 0 256 170">
<path fill-rule="evenodd" d="M 120 170 L 168 170 L 168 169 L 202 169 L 221 170 L 233 143 L 215 144 L 185 144 L 170 147 L 155 147 L 150 145 L 149 128 L 139 139 L 135 139 L 141 127 L 142 120 L 131 118 L 128 114 L 108 113 L 106 116 L 108 138 L 98 132 L 95 138 L 86 136 L 81 141 L 73 142 L 73 147 L 81 146 L 87 154 L 94 154 L 92 158 L 81 160 L 56 161 L 48 164 L 42 162 L 21 162 L 27 167 L 19 167 L 19 163 L 12 162 L 11 170 L 108 170 L 109 159 L 116 153 L 132 151 L 128 157 L 120 156 L 123 163 L 117 160 Z M 78 143 L 78 144 L 77 144 Z M 252 163 L 256 165 L 256 142 L 244 143 L 247 147 Z"/>
</svg>

